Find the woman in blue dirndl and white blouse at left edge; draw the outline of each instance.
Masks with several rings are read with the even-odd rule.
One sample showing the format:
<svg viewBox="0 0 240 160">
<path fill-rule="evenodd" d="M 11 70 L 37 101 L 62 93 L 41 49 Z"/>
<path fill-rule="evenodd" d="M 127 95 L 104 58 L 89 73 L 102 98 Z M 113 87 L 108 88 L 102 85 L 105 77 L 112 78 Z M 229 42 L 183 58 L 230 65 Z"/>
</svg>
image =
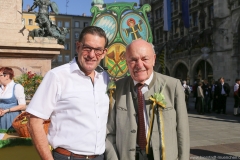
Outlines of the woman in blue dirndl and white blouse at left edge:
<svg viewBox="0 0 240 160">
<path fill-rule="evenodd" d="M 12 68 L 0 68 L 0 129 L 11 129 L 13 120 L 26 109 L 24 88 L 13 77 Z"/>
</svg>

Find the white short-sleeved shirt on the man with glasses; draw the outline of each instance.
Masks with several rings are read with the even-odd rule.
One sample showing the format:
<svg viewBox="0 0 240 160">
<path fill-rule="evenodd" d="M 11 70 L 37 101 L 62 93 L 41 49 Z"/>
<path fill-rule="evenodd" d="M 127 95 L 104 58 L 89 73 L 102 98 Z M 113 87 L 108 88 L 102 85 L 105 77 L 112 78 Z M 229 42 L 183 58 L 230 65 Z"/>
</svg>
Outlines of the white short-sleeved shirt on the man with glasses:
<svg viewBox="0 0 240 160">
<path fill-rule="evenodd" d="M 109 109 L 106 72 L 95 71 L 94 84 L 76 60 L 50 70 L 32 98 L 27 112 L 51 119 L 48 141 L 75 154 L 105 151 Z"/>
</svg>

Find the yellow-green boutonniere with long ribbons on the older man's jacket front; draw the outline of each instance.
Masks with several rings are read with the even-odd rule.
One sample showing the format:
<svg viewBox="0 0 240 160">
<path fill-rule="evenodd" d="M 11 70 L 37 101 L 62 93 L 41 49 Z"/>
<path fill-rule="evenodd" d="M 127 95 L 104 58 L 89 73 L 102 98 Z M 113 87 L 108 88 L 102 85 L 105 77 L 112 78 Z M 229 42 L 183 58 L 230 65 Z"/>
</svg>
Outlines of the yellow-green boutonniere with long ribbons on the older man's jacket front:
<svg viewBox="0 0 240 160">
<path fill-rule="evenodd" d="M 163 88 L 161 90 L 160 93 L 154 93 L 154 95 L 152 95 L 149 100 L 152 103 L 151 108 L 152 108 L 152 114 L 151 114 L 151 118 L 150 118 L 150 125 L 149 125 L 149 129 L 148 129 L 148 135 L 147 135 L 147 145 L 146 145 L 146 153 L 148 154 L 149 151 L 149 145 L 150 145 L 150 135 L 152 135 L 152 127 L 153 127 L 153 120 L 154 120 L 154 111 L 157 110 L 158 111 L 158 125 L 160 126 L 160 132 L 159 132 L 159 137 L 161 140 L 161 154 L 162 154 L 162 159 L 161 160 L 166 160 L 166 156 L 165 156 L 165 140 L 164 140 L 164 122 L 163 122 L 163 115 L 162 115 L 162 110 L 164 108 L 166 108 L 166 100 L 165 100 L 165 96 L 163 95 L 163 91 L 165 89 L 166 86 L 166 82 L 163 85 Z M 156 109 L 155 109 L 156 108 Z"/>
</svg>

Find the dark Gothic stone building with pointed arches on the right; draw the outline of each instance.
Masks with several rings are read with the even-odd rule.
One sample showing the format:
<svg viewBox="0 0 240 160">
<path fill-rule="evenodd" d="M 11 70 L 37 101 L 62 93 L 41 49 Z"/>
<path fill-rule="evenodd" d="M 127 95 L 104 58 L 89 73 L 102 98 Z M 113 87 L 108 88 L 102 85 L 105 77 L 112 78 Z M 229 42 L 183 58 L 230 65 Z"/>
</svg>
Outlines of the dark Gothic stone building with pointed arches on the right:
<svg viewBox="0 0 240 160">
<path fill-rule="evenodd" d="M 217 80 L 233 85 L 240 77 L 240 1 L 189 0 L 190 28 L 182 20 L 182 0 L 171 0 L 172 28 L 163 31 L 163 0 L 150 4 L 148 15 L 157 53 L 155 70 L 187 80 Z"/>
</svg>

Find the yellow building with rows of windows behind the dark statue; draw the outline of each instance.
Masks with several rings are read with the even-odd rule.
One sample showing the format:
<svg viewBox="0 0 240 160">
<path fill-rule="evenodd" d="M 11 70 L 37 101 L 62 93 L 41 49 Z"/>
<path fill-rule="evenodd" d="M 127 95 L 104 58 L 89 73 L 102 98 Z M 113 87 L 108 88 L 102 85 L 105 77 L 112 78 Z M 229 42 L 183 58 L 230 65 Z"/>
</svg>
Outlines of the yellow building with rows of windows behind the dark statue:
<svg viewBox="0 0 240 160">
<path fill-rule="evenodd" d="M 22 23 L 29 31 L 39 28 L 38 23 L 35 22 L 36 15 L 34 12 L 23 11 Z M 79 15 L 66 15 L 66 14 L 53 14 L 51 13 L 49 18 L 52 23 L 56 24 L 59 28 L 69 29 L 69 33 L 66 35 L 64 50 L 56 56 L 52 61 L 52 68 L 68 63 L 76 56 L 76 41 L 82 29 L 91 24 L 92 17 Z"/>
</svg>

